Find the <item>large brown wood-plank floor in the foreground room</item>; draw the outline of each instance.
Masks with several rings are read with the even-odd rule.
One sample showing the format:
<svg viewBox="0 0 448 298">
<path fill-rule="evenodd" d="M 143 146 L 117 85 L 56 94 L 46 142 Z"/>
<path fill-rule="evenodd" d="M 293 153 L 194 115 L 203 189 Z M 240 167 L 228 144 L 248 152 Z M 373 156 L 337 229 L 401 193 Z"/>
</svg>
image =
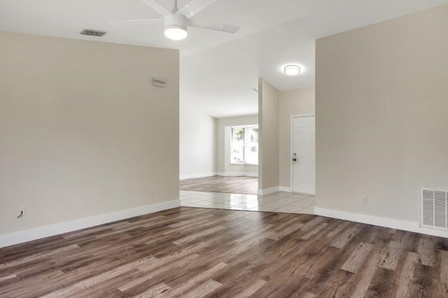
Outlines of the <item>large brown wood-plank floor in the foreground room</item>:
<svg viewBox="0 0 448 298">
<path fill-rule="evenodd" d="M 448 239 L 180 207 L 0 249 L 0 297 L 448 297 Z"/>
</svg>

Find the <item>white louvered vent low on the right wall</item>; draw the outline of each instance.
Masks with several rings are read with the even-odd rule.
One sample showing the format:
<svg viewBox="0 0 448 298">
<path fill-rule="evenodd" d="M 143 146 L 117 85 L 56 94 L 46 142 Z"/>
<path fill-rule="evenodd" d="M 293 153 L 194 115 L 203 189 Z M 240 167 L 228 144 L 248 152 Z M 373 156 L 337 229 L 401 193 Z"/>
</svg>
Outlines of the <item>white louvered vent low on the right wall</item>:
<svg viewBox="0 0 448 298">
<path fill-rule="evenodd" d="M 448 189 L 420 188 L 420 226 L 448 230 Z"/>
</svg>

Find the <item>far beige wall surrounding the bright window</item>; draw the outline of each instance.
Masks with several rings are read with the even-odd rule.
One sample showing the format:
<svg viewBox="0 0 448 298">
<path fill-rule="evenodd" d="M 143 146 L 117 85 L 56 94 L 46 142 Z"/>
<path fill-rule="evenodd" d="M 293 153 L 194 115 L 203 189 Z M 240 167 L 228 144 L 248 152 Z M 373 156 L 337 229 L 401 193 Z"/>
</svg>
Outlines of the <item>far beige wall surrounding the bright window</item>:
<svg viewBox="0 0 448 298">
<path fill-rule="evenodd" d="M 216 172 L 258 174 L 258 165 L 230 165 L 230 126 L 258 124 L 258 116 L 219 118 L 216 125 Z M 226 128 L 227 131 L 226 131 Z"/>
</svg>

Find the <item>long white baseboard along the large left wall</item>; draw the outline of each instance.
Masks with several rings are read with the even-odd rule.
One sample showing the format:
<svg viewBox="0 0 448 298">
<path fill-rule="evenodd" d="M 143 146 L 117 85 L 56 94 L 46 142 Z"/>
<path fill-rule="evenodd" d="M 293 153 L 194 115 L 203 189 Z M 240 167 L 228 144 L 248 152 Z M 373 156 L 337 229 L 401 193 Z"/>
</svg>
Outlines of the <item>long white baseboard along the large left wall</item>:
<svg viewBox="0 0 448 298">
<path fill-rule="evenodd" d="M 30 230 L 23 230 L 19 232 L 13 232 L 10 234 L 2 234 L 0 235 L 0 248 L 14 244 L 20 244 L 31 240 L 55 236 L 57 234 L 63 234 L 66 232 L 72 232 L 76 230 L 90 228 L 94 227 L 95 225 L 102 225 L 104 223 L 120 221 L 125 218 L 131 218 L 134 216 L 140 216 L 166 209 L 172 209 L 180 206 L 181 206 L 181 200 L 173 200 L 159 204 L 151 204 L 143 207 L 116 211 L 98 216 L 80 218 L 74 221 L 55 223 L 54 225 L 45 225 L 43 227 L 38 227 Z"/>
</svg>

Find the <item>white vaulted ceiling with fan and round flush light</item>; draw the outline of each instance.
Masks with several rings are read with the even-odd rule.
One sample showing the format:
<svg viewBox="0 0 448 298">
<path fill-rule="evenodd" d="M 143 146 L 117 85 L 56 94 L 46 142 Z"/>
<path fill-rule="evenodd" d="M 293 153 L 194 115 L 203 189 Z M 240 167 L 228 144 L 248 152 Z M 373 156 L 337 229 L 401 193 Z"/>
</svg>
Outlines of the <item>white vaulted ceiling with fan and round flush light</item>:
<svg viewBox="0 0 448 298">
<path fill-rule="evenodd" d="M 189 0 L 179 0 L 179 6 Z M 174 0 L 160 0 L 167 8 Z M 236 34 L 189 28 L 167 40 L 163 26 L 111 24 L 160 15 L 140 0 L 0 0 L 0 31 L 167 47 L 181 51 L 181 103 L 214 117 L 258 112 L 258 77 L 279 90 L 314 86 L 314 40 L 448 0 L 217 0 L 195 18 L 241 27 Z M 108 33 L 82 36 L 83 29 Z M 302 74 L 286 77 L 295 63 Z M 341 70 L 343 71 L 343 70 Z"/>
</svg>

